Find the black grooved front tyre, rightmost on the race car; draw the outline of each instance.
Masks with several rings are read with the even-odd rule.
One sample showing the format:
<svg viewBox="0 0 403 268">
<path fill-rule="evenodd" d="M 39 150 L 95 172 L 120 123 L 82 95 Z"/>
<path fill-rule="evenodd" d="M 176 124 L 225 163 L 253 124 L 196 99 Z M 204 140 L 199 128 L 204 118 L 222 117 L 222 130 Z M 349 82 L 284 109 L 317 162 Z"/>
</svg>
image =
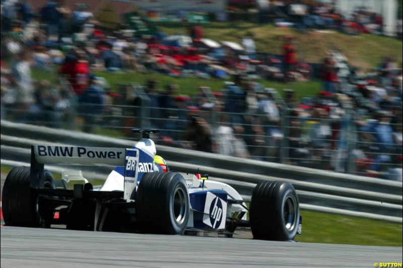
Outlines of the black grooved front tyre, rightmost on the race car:
<svg viewBox="0 0 403 268">
<path fill-rule="evenodd" d="M 292 240 L 299 224 L 299 202 L 288 182 L 262 182 L 252 193 L 249 208 L 254 239 Z"/>
</svg>

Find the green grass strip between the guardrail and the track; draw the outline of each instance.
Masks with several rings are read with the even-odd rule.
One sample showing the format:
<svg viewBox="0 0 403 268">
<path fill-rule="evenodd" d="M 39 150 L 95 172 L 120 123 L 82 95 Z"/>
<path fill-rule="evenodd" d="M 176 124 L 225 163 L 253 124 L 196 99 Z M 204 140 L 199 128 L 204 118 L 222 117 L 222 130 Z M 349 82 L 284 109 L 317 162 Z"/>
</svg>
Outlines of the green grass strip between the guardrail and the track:
<svg viewBox="0 0 403 268">
<path fill-rule="evenodd" d="M 10 166 L 1 165 L 2 173 L 8 173 L 11 169 Z M 102 184 L 102 180 L 92 181 L 92 183 L 99 185 Z M 298 235 L 296 241 L 402 246 L 402 225 L 398 223 L 308 210 L 302 210 L 301 215 L 302 235 Z"/>
</svg>

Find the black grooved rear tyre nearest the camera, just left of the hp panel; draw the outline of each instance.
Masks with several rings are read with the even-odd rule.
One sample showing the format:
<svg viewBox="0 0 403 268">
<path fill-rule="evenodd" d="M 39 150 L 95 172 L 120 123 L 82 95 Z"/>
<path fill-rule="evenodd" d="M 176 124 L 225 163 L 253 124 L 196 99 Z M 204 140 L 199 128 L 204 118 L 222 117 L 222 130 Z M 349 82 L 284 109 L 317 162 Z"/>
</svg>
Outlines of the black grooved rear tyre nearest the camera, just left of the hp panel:
<svg viewBox="0 0 403 268">
<path fill-rule="evenodd" d="M 181 174 L 144 174 L 137 190 L 136 215 L 146 233 L 183 234 L 189 219 L 189 195 Z"/>
</svg>

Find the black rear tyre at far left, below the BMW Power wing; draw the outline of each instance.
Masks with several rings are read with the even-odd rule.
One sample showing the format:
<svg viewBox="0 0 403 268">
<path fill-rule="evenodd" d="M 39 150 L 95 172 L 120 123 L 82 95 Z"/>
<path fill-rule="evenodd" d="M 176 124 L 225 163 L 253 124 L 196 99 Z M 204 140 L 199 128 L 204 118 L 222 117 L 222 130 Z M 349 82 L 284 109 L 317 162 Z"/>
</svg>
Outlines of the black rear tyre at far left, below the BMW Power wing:
<svg viewBox="0 0 403 268">
<path fill-rule="evenodd" d="M 42 188 L 55 189 L 52 173 L 44 171 Z M 3 187 L 3 215 L 8 226 L 50 227 L 49 219 L 53 216 L 53 208 L 41 208 L 39 213 L 39 198 L 32 195 L 30 189 L 30 168 L 14 167 L 6 177 Z M 40 216 L 43 215 L 44 217 Z"/>
</svg>

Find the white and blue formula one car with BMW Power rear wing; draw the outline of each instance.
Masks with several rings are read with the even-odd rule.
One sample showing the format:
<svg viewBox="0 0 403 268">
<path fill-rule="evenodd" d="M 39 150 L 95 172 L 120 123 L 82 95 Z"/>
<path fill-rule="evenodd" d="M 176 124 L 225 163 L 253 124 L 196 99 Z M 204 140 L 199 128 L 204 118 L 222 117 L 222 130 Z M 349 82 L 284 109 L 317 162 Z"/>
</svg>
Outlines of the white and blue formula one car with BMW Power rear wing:
<svg viewBox="0 0 403 268">
<path fill-rule="evenodd" d="M 5 224 L 226 236 L 237 227 L 250 227 L 255 239 L 266 240 L 292 240 L 301 233 L 298 197 L 290 183 L 260 183 L 247 201 L 231 186 L 207 180 L 207 174 L 170 171 L 150 139 L 157 130 L 133 132 L 143 138 L 131 149 L 33 145 L 31 167 L 15 167 L 6 178 Z M 93 187 L 81 171 L 62 171 L 61 180 L 55 181 L 45 163 L 116 167 L 102 186 Z M 74 180 L 84 183 L 70 190 Z"/>
</svg>

